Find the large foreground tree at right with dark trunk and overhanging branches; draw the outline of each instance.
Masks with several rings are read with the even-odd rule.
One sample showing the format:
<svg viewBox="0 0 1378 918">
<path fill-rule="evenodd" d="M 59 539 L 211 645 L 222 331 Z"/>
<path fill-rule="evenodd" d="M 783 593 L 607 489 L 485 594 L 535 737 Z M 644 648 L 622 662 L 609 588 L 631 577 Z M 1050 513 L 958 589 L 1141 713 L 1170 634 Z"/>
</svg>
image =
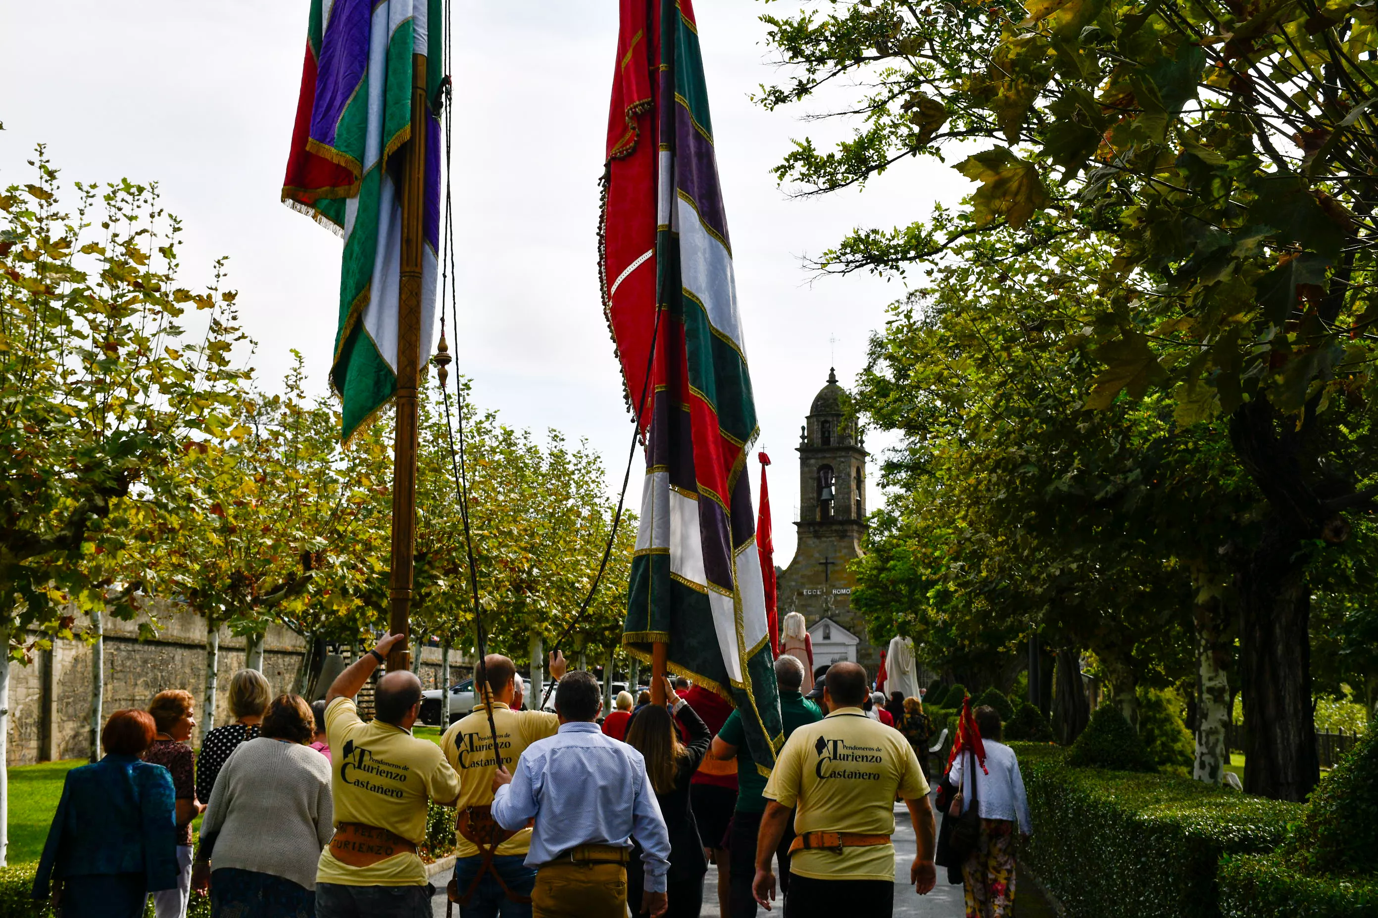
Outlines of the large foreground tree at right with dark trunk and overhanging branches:
<svg viewBox="0 0 1378 918">
<path fill-rule="evenodd" d="M 1112 257 L 1089 278 L 1104 303 L 1083 332 L 1098 367 L 1083 407 L 1158 391 L 1184 417 L 1224 418 L 1266 498 L 1231 562 L 1244 783 L 1304 798 L 1317 778 L 1308 566 L 1378 494 L 1366 407 L 1378 315 L 1378 182 L 1364 165 L 1372 10 L 857 0 L 763 19 L 794 65 L 763 105 L 810 99 L 839 77 L 858 88 L 831 114 L 863 127 L 835 150 L 796 142 L 781 180 L 831 191 L 911 156 L 980 149 L 956 164 L 980 187 L 954 219 L 857 230 L 821 268 L 903 273 L 1003 227 L 1105 234 Z"/>
</svg>

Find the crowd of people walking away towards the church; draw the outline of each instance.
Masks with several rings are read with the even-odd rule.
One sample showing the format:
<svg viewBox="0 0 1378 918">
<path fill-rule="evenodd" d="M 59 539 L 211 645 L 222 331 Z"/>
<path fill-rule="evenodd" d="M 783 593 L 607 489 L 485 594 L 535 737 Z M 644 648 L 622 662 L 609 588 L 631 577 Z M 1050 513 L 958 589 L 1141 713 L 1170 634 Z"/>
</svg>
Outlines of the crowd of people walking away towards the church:
<svg viewBox="0 0 1378 918">
<path fill-rule="evenodd" d="M 136 918 L 149 899 L 157 918 L 185 918 L 193 895 L 215 918 L 429 918 L 419 849 L 438 804 L 455 808 L 460 918 L 692 918 L 706 895 L 723 918 L 781 897 L 785 918 L 889 915 L 903 801 L 918 841 L 901 882 L 930 892 L 937 860 L 967 918 L 1011 915 L 1014 840 L 1032 826 L 999 714 L 965 713 L 934 796 L 922 701 L 875 692 L 857 663 L 813 668 L 808 633 L 790 617 L 784 632 L 773 761 L 711 685 L 667 679 L 664 705 L 620 692 L 602 717 L 597 679 L 558 652 L 554 713 L 526 710 L 515 665 L 492 654 L 474 710 L 438 745 L 412 734 L 409 672 L 376 680 L 372 720 L 356 706 L 400 636 L 314 705 L 236 673 L 234 720 L 198 753 L 192 695 L 158 692 L 112 714 L 103 758 L 68 772 L 34 896 L 63 918 Z"/>
</svg>

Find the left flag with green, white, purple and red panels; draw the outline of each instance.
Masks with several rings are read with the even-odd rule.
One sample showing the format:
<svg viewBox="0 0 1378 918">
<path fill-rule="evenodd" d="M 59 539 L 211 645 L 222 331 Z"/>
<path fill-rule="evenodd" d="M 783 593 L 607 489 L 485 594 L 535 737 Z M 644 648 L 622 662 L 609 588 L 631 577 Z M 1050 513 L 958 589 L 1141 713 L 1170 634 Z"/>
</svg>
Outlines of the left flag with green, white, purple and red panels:
<svg viewBox="0 0 1378 918">
<path fill-rule="evenodd" d="M 331 388 L 349 440 L 397 391 L 401 172 L 411 136 L 412 55 L 427 99 L 442 78 L 442 0 L 311 0 L 306 63 L 282 201 L 344 237 Z M 430 28 L 434 25 L 434 29 Z M 435 323 L 440 124 L 426 118 L 422 355 Z"/>
</svg>

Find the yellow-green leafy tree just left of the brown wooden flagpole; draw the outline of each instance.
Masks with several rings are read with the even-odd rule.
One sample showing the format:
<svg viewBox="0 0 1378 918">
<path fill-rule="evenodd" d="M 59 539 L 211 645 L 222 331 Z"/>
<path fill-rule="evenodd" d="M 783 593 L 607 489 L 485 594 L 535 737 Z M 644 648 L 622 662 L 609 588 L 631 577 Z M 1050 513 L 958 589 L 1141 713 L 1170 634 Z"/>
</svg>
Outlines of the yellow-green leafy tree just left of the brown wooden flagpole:
<svg viewBox="0 0 1378 918">
<path fill-rule="evenodd" d="M 154 566 L 169 592 L 205 618 L 203 727 L 214 727 L 219 632 L 245 636 L 245 665 L 262 666 L 277 621 L 306 639 L 299 688 L 324 641 L 357 639 L 386 621 L 368 601 L 386 581 L 391 450 L 380 429 L 338 443 L 338 412 L 310 399 L 300 355 L 282 395 L 245 394 L 223 443 L 194 443 L 179 472 L 190 500 L 164 516 Z"/>
</svg>

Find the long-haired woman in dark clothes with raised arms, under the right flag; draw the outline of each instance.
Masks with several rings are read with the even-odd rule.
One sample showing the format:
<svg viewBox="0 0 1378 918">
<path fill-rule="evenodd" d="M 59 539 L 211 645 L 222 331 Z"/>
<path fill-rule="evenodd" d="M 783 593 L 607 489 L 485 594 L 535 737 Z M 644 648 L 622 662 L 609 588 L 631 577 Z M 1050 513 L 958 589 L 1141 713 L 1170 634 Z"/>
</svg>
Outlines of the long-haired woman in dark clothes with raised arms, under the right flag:
<svg viewBox="0 0 1378 918">
<path fill-rule="evenodd" d="M 666 680 L 666 701 L 671 707 L 648 705 L 627 725 L 627 745 L 646 760 L 646 778 L 656 791 L 656 802 L 670 830 L 670 875 L 666 918 L 696 917 L 703 907 L 703 875 L 708 860 L 703 853 L 699 826 L 689 805 L 689 780 L 708 751 L 712 734 L 685 699 Z M 671 716 L 671 712 L 674 714 Z M 689 734 L 689 743 L 679 742 L 675 721 Z M 714 845 L 717 840 L 712 840 Z M 627 889 L 642 888 L 641 846 L 627 864 Z M 646 912 L 641 912 L 646 914 Z"/>
</svg>

